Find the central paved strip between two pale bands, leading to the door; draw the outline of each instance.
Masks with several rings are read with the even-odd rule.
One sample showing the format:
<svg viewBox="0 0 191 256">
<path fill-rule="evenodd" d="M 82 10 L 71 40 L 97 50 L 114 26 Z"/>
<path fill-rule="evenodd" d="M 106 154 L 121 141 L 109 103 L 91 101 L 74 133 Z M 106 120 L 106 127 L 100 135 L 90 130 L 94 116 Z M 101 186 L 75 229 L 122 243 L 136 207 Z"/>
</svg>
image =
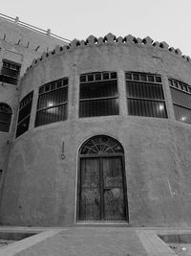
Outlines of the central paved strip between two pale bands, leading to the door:
<svg viewBox="0 0 191 256">
<path fill-rule="evenodd" d="M 85 227 L 60 231 L 16 256 L 148 256 L 135 230 Z"/>
</svg>

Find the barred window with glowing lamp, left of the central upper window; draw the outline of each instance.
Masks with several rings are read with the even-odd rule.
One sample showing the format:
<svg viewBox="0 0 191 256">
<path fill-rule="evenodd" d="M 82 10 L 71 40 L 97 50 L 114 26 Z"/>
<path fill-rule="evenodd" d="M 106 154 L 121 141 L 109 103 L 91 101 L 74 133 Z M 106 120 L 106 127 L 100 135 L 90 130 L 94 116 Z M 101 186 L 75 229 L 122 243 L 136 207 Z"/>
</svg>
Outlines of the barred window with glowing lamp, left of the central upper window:
<svg viewBox="0 0 191 256">
<path fill-rule="evenodd" d="M 35 127 L 66 120 L 67 105 L 68 78 L 40 86 Z"/>
</svg>

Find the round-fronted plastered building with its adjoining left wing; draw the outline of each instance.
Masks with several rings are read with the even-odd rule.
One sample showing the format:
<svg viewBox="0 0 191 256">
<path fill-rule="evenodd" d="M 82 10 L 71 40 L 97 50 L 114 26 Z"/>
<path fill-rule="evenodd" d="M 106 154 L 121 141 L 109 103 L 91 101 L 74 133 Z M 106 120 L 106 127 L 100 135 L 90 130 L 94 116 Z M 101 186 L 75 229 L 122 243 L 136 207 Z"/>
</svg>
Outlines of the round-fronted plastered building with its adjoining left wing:
<svg viewBox="0 0 191 256">
<path fill-rule="evenodd" d="M 31 33 L 1 36 L 1 223 L 189 225 L 191 59 L 150 37 Z"/>
</svg>

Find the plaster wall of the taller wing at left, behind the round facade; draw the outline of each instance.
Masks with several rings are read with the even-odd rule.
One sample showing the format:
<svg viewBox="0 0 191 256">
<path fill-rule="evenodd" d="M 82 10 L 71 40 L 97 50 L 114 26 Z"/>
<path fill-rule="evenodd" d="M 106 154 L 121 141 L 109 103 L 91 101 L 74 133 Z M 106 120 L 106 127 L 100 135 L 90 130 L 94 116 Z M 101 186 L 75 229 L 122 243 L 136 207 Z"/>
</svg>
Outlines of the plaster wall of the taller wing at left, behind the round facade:
<svg viewBox="0 0 191 256">
<path fill-rule="evenodd" d="M 48 49 L 53 50 L 56 45 L 65 45 L 66 42 L 48 35 L 36 33 L 0 18 L 0 70 L 3 59 L 21 64 L 20 77 L 32 64 L 33 58 L 39 58 Z M 0 103 L 6 103 L 12 108 L 10 132 L 0 131 L 0 170 L 5 171 L 8 161 L 8 152 L 11 140 L 14 137 L 17 120 L 17 109 L 20 98 L 20 86 L 0 82 Z M 2 180 L 1 180 L 2 183 Z"/>
</svg>

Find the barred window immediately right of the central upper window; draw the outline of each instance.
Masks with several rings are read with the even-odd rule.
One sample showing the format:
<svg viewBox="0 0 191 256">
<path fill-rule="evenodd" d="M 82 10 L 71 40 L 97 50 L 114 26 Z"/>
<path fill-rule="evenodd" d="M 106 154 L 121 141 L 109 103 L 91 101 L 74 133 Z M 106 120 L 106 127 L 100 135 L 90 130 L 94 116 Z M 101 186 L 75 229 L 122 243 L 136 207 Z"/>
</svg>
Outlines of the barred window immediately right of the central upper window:
<svg viewBox="0 0 191 256">
<path fill-rule="evenodd" d="M 159 75 L 127 72 L 125 78 L 129 115 L 167 118 Z"/>
</svg>

